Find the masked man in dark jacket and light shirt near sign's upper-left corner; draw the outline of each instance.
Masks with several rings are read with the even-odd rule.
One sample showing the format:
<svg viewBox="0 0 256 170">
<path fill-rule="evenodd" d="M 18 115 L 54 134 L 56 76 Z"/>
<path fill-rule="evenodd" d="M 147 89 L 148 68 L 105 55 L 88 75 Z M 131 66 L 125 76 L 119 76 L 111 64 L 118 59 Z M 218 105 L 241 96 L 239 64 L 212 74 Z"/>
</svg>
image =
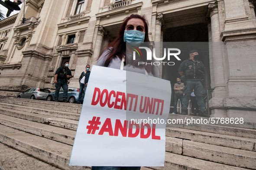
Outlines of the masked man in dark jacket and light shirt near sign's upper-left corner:
<svg viewBox="0 0 256 170">
<path fill-rule="evenodd" d="M 79 89 L 79 96 L 78 96 L 78 102 L 77 104 L 81 104 L 82 101 L 82 94 L 83 94 L 83 90 L 85 93 L 87 84 L 88 84 L 88 80 L 89 80 L 89 76 L 91 71 L 90 70 L 90 65 L 86 65 L 86 70 L 84 70 L 81 74 L 81 76 L 79 77 L 79 83 L 80 83 L 80 89 Z"/>
</svg>

